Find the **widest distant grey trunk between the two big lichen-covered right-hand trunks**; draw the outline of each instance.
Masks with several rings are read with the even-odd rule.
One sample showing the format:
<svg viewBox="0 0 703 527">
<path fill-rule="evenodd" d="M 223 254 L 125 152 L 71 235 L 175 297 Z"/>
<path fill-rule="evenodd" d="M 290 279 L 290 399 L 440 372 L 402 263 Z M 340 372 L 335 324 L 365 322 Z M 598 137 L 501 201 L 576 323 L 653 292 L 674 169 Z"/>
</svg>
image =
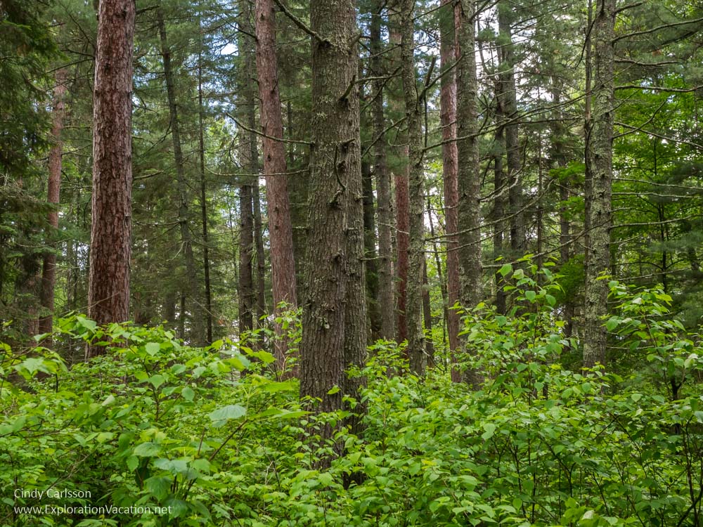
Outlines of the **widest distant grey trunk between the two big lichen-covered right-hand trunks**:
<svg viewBox="0 0 703 527">
<path fill-rule="evenodd" d="M 512 48 L 512 7 L 505 0 L 498 2 L 498 30 L 503 44 L 500 48 L 501 72 L 498 74 L 503 96 L 505 124 L 505 152 L 508 158 L 508 202 L 510 204 L 510 248 L 515 256 L 526 251 L 525 223 L 522 209 L 522 182 L 520 181 L 520 138 L 517 122 L 517 89 L 515 89 L 515 51 Z"/>
</svg>

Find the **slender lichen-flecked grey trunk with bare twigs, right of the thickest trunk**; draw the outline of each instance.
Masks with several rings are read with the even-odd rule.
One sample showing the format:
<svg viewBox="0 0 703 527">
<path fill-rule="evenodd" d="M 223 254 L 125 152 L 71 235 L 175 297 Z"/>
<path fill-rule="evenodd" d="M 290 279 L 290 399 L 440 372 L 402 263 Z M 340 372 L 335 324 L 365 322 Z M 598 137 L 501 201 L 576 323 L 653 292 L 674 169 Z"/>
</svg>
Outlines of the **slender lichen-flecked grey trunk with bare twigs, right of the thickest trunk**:
<svg viewBox="0 0 703 527">
<path fill-rule="evenodd" d="M 408 246 L 408 279 L 406 282 L 408 325 L 408 356 L 410 368 L 423 375 L 427 363 L 423 333 L 423 265 L 425 262 L 425 175 L 423 172 L 423 131 L 415 79 L 414 13 L 415 0 L 404 0 L 401 11 L 401 76 L 408 125 L 408 155 L 410 161 L 408 187 L 410 221 Z"/>
</svg>

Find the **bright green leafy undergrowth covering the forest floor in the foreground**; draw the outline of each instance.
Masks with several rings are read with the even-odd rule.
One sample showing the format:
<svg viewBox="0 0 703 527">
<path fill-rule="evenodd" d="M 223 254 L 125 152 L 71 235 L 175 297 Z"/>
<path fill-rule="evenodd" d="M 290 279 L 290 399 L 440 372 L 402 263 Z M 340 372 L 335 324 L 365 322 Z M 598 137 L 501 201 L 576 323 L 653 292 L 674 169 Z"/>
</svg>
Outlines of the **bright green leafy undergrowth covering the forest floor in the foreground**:
<svg viewBox="0 0 703 527">
<path fill-rule="evenodd" d="M 1 523 L 700 526 L 699 336 L 668 320 L 661 291 L 612 282 L 610 370 L 578 370 L 555 277 L 533 271 L 502 270 L 509 315 L 465 313 L 460 367 L 482 375 L 481 389 L 441 367 L 415 377 L 403 346 L 379 341 L 350 372 L 366 377 L 362 404 L 331 414 L 304 412 L 297 381 L 274 380 L 273 357 L 245 343 L 193 349 L 162 328 L 75 316 L 60 320 L 57 346 L 101 341 L 106 356 L 68 368 L 41 346 L 0 346 L 2 487 L 90 490 L 60 504 L 133 507 L 22 514 L 37 500 L 6 490 Z M 363 436 L 340 425 L 358 408 Z M 324 426 L 337 430 L 326 442 Z"/>
</svg>

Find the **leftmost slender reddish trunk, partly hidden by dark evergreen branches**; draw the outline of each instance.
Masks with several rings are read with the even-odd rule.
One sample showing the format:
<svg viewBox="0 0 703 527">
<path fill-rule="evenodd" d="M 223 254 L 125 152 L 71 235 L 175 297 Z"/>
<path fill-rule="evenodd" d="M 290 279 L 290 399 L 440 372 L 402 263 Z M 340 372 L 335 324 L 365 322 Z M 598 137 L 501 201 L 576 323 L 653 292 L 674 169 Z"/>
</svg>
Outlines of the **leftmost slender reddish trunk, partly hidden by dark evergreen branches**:
<svg viewBox="0 0 703 527">
<path fill-rule="evenodd" d="M 49 183 L 46 189 L 46 201 L 56 206 L 48 214 L 49 225 L 52 230 L 58 229 L 58 204 L 60 203 L 61 188 L 61 156 L 63 155 L 63 142 L 61 131 L 66 93 L 66 70 L 61 68 L 56 72 L 56 88 L 53 91 L 53 124 L 51 137 L 53 145 L 49 151 Z M 53 235 L 53 233 L 52 233 Z M 52 244 L 52 248 L 53 248 Z M 39 333 L 50 333 L 53 327 L 53 289 L 56 285 L 56 253 L 51 251 L 44 254 L 41 268 L 40 303 L 44 314 L 39 317 Z M 46 341 L 46 346 L 51 347 L 51 337 Z"/>
</svg>

